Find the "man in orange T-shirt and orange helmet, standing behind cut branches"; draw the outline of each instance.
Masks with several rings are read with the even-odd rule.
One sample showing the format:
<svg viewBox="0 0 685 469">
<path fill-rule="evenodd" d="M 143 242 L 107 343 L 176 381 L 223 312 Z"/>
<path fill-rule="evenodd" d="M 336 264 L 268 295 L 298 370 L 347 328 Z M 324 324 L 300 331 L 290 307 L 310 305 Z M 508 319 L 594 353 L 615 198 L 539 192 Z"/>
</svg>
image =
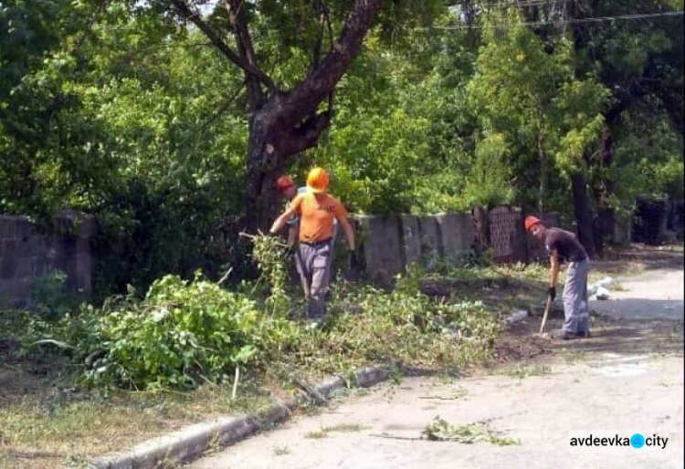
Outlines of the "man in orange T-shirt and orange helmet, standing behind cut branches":
<svg viewBox="0 0 685 469">
<path fill-rule="evenodd" d="M 269 233 L 277 234 L 293 215 L 300 216 L 296 264 L 308 301 L 307 316 L 314 324 L 318 324 L 326 313 L 325 297 L 331 277 L 335 220 L 342 227 L 348 249 L 354 251 L 354 232 L 347 220 L 347 210 L 338 199 L 326 193 L 328 183 L 328 173 L 323 168 L 313 168 L 307 176 L 306 192 L 292 199 L 288 209 L 279 215 L 269 230 Z"/>
</svg>

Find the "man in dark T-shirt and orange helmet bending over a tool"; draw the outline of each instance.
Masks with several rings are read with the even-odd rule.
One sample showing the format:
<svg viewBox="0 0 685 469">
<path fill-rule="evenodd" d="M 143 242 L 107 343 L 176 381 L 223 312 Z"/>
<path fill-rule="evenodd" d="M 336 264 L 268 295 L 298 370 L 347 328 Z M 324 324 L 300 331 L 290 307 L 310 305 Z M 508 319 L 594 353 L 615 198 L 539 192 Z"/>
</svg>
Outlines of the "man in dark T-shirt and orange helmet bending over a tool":
<svg viewBox="0 0 685 469">
<path fill-rule="evenodd" d="M 576 339 L 590 337 L 590 308 L 587 303 L 587 274 L 590 271 L 590 260 L 585 248 L 575 234 L 560 228 L 547 228 L 534 216 L 527 216 L 523 222 L 525 229 L 535 238 L 543 241 L 550 255 L 551 275 L 547 295 L 554 301 L 559 266 L 565 259 L 566 284 L 564 286 L 564 327 L 559 339 Z"/>
</svg>

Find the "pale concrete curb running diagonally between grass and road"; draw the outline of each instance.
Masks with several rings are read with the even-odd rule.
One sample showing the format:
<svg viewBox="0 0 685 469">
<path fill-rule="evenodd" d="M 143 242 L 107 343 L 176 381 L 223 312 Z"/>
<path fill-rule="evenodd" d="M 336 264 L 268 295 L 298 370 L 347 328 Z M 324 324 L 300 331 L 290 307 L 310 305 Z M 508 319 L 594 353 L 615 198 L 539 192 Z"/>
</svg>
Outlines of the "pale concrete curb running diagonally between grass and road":
<svg viewBox="0 0 685 469">
<path fill-rule="evenodd" d="M 389 369 L 394 364 L 366 367 L 354 372 L 351 387 L 368 387 L 387 380 Z M 333 391 L 345 387 L 340 376 L 324 380 L 312 387 L 312 394 L 328 397 Z M 288 420 L 290 414 L 302 404 L 316 401 L 308 393 L 300 391 L 294 398 L 277 401 L 266 410 L 242 417 L 216 419 L 197 423 L 179 431 L 153 438 L 121 453 L 111 453 L 91 461 L 95 469 L 147 469 L 160 467 L 164 463 L 187 463 L 199 458 L 209 447 L 225 447 L 244 440 L 275 423 Z"/>
</svg>

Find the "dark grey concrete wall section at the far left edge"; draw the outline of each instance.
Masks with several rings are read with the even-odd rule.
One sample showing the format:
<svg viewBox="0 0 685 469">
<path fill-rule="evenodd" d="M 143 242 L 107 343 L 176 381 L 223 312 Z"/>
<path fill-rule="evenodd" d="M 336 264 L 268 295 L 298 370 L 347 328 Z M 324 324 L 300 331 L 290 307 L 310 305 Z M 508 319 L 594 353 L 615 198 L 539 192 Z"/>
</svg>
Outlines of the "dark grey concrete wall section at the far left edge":
<svg viewBox="0 0 685 469">
<path fill-rule="evenodd" d="M 50 224 L 25 216 L 0 215 L 0 307 L 24 307 L 37 279 L 58 270 L 68 275 L 68 292 L 87 298 L 91 291 L 91 216 L 65 211 Z"/>
</svg>

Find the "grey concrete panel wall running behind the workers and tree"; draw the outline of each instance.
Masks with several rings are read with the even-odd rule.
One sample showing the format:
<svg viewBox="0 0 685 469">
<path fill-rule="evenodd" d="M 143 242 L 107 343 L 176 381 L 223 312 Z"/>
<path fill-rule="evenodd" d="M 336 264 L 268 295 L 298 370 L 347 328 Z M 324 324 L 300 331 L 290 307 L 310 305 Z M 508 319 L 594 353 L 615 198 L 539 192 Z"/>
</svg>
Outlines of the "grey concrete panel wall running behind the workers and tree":
<svg viewBox="0 0 685 469">
<path fill-rule="evenodd" d="M 497 239 L 501 246 L 495 247 L 501 256 L 496 260 L 542 258 L 543 247 L 523 234 L 520 209 L 504 207 L 497 214 L 501 226 L 497 227 L 496 219 L 490 226 L 499 230 Z M 545 214 L 543 220 L 555 226 L 558 215 Z M 351 273 L 342 242 L 344 236 L 339 230 L 334 268 L 346 271 L 350 278 L 365 276 L 382 286 L 391 285 L 393 277 L 412 263 L 458 264 L 476 242 L 471 214 L 354 216 L 352 223 L 361 263 Z M 93 274 L 90 239 L 95 232 L 93 217 L 73 212 L 59 215 L 49 227 L 22 216 L 0 215 L 0 307 L 30 304 L 31 285 L 57 270 L 67 273 L 67 287 L 72 295 L 87 299 Z"/>
</svg>

